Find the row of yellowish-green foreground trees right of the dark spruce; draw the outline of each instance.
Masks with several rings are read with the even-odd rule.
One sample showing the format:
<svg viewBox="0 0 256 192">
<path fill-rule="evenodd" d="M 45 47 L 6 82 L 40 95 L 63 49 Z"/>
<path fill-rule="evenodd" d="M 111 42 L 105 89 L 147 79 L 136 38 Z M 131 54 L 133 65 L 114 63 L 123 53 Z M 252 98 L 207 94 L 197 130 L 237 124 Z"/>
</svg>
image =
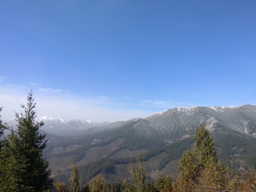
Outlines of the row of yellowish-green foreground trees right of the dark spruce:
<svg viewBox="0 0 256 192">
<path fill-rule="evenodd" d="M 78 174 L 73 165 L 73 174 L 69 180 L 71 184 L 54 182 L 55 190 L 56 192 L 254 192 L 256 190 L 256 171 L 248 169 L 229 172 L 223 162 L 218 160 L 217 150 L 205 126 L 200 125 L 196 128 L 194 140 L 194 149 L 192 151 L 188 149 L 182 154 L 178 167 L 179 176 L 176 178 L 160 176 L 156 182 L 149 180 L 142 166 L 143 157 L 138 154 L 136 164 L 132 163 L 134 159 L 129 162 L 130 180 L 106 182 L 106 178 L 97 173 L 97 176 L 82 188 L 79 188 L 79 183 L 76 182 L 77 187 L 74 190 L 73 180 L 76 178 L 75 180 L 78 181 Z M 103 165 L 106 162 L 102 160 L 99 164 Z"/>
</svg>

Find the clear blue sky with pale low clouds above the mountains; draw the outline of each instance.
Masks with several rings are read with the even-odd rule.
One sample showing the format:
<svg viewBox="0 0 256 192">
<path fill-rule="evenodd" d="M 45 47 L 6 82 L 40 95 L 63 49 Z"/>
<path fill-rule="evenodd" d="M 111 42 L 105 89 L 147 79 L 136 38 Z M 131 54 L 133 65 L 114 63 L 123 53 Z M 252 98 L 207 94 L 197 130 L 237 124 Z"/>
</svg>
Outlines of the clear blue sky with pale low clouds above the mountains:
<svg viewBox="0 0 256 192">
<path fill-rule="evenodd" d="M 256 105 L 255 0 L 0 0 L 1 118 Z"/>
</svg>

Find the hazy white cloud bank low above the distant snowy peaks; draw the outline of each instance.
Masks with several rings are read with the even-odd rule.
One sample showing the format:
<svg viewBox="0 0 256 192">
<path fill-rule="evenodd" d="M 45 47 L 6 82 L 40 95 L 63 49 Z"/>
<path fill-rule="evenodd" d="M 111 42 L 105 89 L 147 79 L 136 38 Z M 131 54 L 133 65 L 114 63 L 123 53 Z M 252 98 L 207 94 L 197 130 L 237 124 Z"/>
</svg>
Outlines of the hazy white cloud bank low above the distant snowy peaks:
<svg viewBox="0 0 256 192">
<path fill-rule="evenodd" d="M 2 119 L 14 118 L 14 111 L 20 112 L 20 104 L 26 104 L 26 96 L 31 88 L 18 85 L 0 85 L 0 106 Z M 92 121 L 117 121 L 136 117 L 144 118 L 153 112 L 138 108 L 125 108 L 114 98 L 109 96 L 77 95 L 62 89 L 42 88 L 33 90 L 38 116 L 53 118 L 86 119 Z"/>
</svg>

